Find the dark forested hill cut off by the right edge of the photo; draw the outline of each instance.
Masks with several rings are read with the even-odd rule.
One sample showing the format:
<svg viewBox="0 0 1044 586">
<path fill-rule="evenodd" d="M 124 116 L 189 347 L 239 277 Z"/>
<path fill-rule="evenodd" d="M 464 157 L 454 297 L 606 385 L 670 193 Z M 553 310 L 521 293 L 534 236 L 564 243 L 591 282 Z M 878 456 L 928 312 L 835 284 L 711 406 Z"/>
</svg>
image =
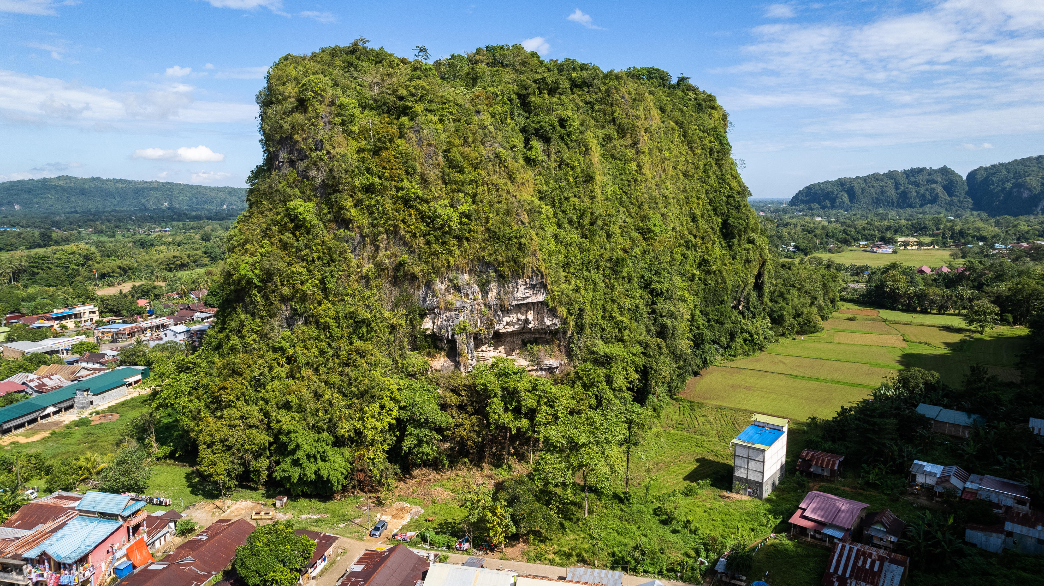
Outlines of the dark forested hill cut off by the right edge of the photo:
<svg viewBox="0 0 1044 586">
<path fill-rule="evenodd" d="M 975 210 L 991 216 L 1026 216 L 1044 211 L 1044 155 L 979 167 L 968 173 Z"/>
</svg>

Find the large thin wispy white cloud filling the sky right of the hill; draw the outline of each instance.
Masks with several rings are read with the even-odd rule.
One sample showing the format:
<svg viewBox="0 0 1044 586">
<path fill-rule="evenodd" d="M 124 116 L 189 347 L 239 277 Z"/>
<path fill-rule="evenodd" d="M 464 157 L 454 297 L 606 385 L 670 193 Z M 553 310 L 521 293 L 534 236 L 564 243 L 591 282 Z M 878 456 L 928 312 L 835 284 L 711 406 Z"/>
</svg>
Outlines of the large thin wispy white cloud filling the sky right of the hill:
<svg viewBox="0 0 1044 586">
<path fill-rule="evenodd" d="M 780 108 L 797 119 L 796 146 L 983 149 L 997 135 L 1044 132 L 1044 4 L 943 0 L 882 14 L 752 29 L 748 58 L 713 70 L 738 75 L 722 105 Z"/>
</svg>

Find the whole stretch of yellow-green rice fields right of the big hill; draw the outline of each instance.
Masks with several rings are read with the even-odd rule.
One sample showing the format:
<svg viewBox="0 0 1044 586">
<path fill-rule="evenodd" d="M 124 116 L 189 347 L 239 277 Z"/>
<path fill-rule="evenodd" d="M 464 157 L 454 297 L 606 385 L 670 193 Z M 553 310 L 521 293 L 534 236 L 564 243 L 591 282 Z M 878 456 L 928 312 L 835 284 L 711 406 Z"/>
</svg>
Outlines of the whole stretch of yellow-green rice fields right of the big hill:
<svg viewBox="0 0 1044 586">
<path fill-rule="evenodd" d="M 846 319 L 851 315 L 855 321 Z M 756 357 L 708 368 L 689 380 L 681 396 L 806 420 L 832 417 L 902 368 L 933 370 L 951 387 L 963 386 L 974 364 L 1002 381 L 1018 381 L 1015 366 L 1028 344 L 1027 331 L 1001 327 L 979 336 L 953 327 L 962 321 L 846 303 L 824 322 L 824 332 L 782 339 Z"/>
</svg>

